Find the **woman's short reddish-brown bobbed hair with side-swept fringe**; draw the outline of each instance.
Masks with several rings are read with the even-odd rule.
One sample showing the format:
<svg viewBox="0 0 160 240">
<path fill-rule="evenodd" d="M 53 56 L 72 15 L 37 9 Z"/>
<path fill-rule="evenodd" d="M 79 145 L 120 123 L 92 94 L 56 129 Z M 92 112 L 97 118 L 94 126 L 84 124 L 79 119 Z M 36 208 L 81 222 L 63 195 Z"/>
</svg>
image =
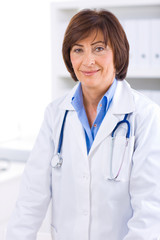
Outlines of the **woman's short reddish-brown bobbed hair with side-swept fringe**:
<svg viewBox="0 0 160 240">
<path fill-rule="evenodd" d="M 129 63 L 129 43 L 117 17 L 107 10 L 84 9 L 72 17 L 66 29 L 62 54 L 67 70 L 72 78 L 78 81 L 70 60 L 70 51 L 73 45 L 85 39 L 93 31 L 102 31 L 107 46 L 109 41 L 113 51 L 113 61 L 116 70 L 116 79 L 126 77 Z"/>
</svg>

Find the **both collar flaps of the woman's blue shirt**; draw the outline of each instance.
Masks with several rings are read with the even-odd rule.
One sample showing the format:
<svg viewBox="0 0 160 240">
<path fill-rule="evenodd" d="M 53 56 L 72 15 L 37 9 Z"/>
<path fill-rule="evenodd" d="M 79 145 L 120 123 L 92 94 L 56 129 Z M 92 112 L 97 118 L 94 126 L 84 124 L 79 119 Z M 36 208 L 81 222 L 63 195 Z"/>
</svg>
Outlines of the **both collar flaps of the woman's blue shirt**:
<svg viewBox="0 0 160 240">
<path fill-rule="evenodd" d="M 106 111 L 108 110 L 108 108 L 111 104 L 111 101 L 113 99 L 113 96 L 114 96 L 114 93 L 115 93 L 115 90 L 116 90 L 116 86 L 117 86 L 117 80 L 115 78 L 112 85 L 108 89 L 108 91 L 104 94 L 104 96 L 99 101 L 97 110 L 99 110 L 102 107 L 104 109 L 106 109 Z M 72 97 L 71 104 L 73 105 L 74 109 L 77 112 L 80 111 L 83 108 L 83 95 L 82 95 L 82 87 L 81 87 L 80 82 L 79 82 L 78 87 L 77 87 L 77 89 L 76 89 L 76 91 L 75 91 L 75 93 Z"/>
</svg>

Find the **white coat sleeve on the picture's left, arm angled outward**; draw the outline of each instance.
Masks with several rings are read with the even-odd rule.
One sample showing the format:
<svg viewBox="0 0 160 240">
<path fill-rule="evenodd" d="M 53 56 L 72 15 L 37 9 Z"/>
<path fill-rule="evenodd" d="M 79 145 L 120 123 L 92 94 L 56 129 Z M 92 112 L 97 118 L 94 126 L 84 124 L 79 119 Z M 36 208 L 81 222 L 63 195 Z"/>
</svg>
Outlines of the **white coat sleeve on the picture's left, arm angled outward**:
<svg viewBox="0 0 160 240">
<path fill-rule="evenodd" d="M 6 240 L 35 240 L 51 198 L 52 141 L 49 107 L 22 177 Z"/>
</svg>

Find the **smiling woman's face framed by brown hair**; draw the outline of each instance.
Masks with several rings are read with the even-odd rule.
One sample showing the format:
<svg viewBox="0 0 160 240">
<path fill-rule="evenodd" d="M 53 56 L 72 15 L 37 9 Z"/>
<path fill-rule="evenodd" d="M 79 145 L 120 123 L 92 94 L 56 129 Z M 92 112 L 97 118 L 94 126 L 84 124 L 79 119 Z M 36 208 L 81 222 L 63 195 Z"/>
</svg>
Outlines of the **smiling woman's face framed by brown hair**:
<svg viewBox="0 0 160 240">
<path fill-rule="evenodd" d="M 82 89 L 107 91 L 115 78 L 113 51 L 101 31 L 74 44 L 70 59 Z"/>
</svg>

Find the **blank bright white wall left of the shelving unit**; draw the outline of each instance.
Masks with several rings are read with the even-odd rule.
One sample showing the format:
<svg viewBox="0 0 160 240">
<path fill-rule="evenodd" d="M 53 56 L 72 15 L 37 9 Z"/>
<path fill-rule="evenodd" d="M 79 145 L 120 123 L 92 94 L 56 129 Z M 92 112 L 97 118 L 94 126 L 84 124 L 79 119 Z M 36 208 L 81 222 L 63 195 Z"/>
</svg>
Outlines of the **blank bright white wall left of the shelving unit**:
<svg viewBox="0 0 160 240">
<path fill-rule="evenodd" d="M 37 134 L 50 100 L 50 1 L 0 0 L 0 140 Z"/>
</svg>

